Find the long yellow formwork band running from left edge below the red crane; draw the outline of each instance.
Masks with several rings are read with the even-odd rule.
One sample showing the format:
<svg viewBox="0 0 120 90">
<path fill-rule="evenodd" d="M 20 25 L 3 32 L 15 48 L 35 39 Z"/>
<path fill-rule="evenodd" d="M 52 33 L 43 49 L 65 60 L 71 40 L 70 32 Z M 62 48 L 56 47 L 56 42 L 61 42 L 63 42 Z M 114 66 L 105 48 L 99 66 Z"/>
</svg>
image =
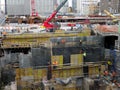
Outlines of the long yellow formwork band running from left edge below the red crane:
<svg viewBox="0 0 120 90">
<path fill-rule="evenodd" d="M 13 48 L 13 45 L 18 47 L 30 47 L 31 45 L 39 45 L 49 41 L 51 37 L 73 37 L 73 36 L 90 36 L 90 30 L 85 30 L 81 33 L 42 33 L 42 34 L 20 34 L 20 35 L 7 35 L 3 39 L 2 48 Z M 9 43 L 9 44 L 8 44 Z M 14 47 L 17 48 L 17 47 Z"/>
</svg>

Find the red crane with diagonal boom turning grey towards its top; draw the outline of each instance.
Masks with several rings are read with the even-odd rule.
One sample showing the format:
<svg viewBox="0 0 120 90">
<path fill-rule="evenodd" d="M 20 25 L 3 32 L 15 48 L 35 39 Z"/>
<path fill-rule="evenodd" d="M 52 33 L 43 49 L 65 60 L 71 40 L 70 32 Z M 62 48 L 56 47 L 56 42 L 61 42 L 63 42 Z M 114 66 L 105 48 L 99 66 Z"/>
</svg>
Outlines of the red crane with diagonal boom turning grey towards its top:
<svg viewBox="0 0 120 90">
<path fill-rule="evenodd" d="M 43 26 L 47 29 L 53 29 L 54 25 L 50 23 L 50 21 L 55 17 L 55 15 L 57 14 L 57 12 L 63 7 L 63 5 L 65 5 L 65 3 L 68 0 L 64 0 L 58 7 L 57 9 L 43 22 Z"/>
</svg>

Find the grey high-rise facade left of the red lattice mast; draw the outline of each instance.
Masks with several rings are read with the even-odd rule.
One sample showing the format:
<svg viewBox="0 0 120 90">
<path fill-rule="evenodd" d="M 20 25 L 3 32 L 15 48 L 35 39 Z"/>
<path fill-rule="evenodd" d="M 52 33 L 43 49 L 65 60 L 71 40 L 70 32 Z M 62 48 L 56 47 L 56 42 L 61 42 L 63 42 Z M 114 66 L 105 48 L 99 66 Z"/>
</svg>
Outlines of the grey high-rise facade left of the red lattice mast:
<svg viewBox="0 0 120 90">
<path fill-rule="evenodd" d="M 30 15 L 30 0 L 6 0 L 7 15 Z"/>
</svg>

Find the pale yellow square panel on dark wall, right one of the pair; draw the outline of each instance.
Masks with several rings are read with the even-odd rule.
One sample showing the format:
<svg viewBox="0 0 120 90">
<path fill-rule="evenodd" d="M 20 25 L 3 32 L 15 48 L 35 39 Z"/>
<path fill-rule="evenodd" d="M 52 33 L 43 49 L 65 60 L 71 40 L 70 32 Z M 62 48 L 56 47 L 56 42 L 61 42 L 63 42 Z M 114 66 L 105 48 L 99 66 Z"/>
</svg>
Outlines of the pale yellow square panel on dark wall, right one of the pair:
<svg viewBox="0 0 120 90">
<path fill-rule="evenodd" d="M 83 55 L 82 54 L 73 54 L 70 56 L 71 65 L 82 65 L 83 64 Z"/>
</svg>

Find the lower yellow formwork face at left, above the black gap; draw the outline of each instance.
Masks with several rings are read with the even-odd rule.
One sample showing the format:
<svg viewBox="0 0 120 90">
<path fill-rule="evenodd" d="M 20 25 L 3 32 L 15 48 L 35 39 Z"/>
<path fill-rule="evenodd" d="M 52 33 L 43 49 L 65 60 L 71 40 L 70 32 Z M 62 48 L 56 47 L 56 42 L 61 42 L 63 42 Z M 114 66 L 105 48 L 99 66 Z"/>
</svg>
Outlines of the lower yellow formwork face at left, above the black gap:
<svg viewBox="0 0 120 90">
<path fill-rule="evenodd" d="M 47 42 L 48 37 L 45 38 L 6 38 L 3 39 L 2 48 L 18 48 L 18 47 L 32 47 L 40 46 L 41 43 Z"/>
</svg>

